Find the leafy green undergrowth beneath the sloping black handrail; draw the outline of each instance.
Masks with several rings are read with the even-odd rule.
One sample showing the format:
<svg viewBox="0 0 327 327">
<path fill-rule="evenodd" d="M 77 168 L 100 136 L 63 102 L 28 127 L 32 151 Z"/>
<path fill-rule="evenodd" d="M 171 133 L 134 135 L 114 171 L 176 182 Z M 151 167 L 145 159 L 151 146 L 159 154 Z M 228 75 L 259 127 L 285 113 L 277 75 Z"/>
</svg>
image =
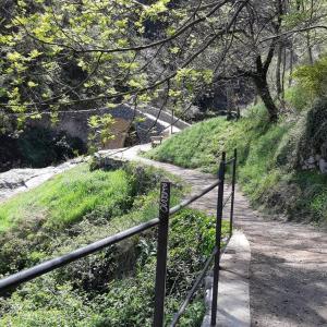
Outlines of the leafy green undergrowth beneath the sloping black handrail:
<svg viewBox="0 0 327 327">
<path fill-rule="evenodd" d="M 228 233 L 228 223 L 222 223 L 222 234 Z M 101 279 L 101 289 L 85 289 L 86 279 L 76 283 L 74 264 L 70 265 L 69 276 L 57 272 L 24 284 L 10 298 L 0 298 L 0 326 L 152 326 L 154 308 L 154 287 L 156 269 L 156 232 L 135 237 L 133 249 L 138 253 L 134 271 L 124 271 L 119 278 Z M 215 246 L 215 217 L 185 209 L 177 214 L 170 223 L 168 249 L 168 274 L 166 298 L 166 323 L 172 319 L 187 290 L 203 269 L 207 256 Z M 126 247 L 126 244 L 123 245 Z M 114 249 L 97 255 L 101 262 Z M 131 251 L 131 250 L 130 250 Z M 124 256 L 129 252 L 124 251 Z M 111 261 L 111 266 L 118 264 Z M 97 261 L 77 265 L 95 278 Z M 85 268 L 85 266 L 87 266 Z M 105 267 L 101 267 L 102 269 Z M 109 267 L 106 267 L 110 269 Z M 183 314 L 179 326 L 201 326 L 205 306 L 203 290 L 197 292 Z M 47 314 L 45 314 L 47 313 Z"/>
</svg>

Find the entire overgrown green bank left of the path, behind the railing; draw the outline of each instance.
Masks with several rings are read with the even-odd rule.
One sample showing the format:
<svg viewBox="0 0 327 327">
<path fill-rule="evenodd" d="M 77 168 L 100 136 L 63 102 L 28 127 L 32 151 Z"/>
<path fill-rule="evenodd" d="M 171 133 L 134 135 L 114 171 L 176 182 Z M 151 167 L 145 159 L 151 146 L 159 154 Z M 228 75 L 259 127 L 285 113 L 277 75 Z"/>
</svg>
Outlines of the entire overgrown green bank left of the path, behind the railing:
<svg viewBox="0 0 327 327">
<path fill-rule="evenodd" d="M 90 172 L 84 165 L 7 201 L 0 206 L 0 276 L 156 217 L 161 178 L 153 168 Z M 181 195 L 173 187 L 172 205 Z M 168 319 L 214 246 L 214 221 L 194 210 L 171 221 Z M 0 296 L 0 326 L 150 326 L 155 255 L 152 231 L 25 283 Z M 203 314 L 199 293 L 181 326 L 198 326 Z"/>
</svg>

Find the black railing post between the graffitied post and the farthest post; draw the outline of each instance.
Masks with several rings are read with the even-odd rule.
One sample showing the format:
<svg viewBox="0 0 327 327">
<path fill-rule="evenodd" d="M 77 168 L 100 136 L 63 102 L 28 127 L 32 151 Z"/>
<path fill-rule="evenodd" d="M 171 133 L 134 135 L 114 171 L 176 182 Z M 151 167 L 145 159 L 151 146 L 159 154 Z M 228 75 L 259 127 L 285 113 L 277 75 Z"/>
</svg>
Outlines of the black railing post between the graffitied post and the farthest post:
<svg viewBox="0 0 327 327">
<path fill-rule="evenodd" d="M 213 303 L 211 303 L 211 326 L 216 326 L 217 302 L 218 302 L 218 281 L 219 281 L 219 264 L 220 264 L 220 242 L 221 242 L 221 220 L 222 220 L 222 202 L 223 202 L 223 183 L 225 183 L 225 166 L 226 153 L 222 153 L 219 166 L 219 185 L 217 199 L 217 220 L 216 220 L 216 254 L 214 267 L 214 286 L 213 286 Z"/>
</svg>

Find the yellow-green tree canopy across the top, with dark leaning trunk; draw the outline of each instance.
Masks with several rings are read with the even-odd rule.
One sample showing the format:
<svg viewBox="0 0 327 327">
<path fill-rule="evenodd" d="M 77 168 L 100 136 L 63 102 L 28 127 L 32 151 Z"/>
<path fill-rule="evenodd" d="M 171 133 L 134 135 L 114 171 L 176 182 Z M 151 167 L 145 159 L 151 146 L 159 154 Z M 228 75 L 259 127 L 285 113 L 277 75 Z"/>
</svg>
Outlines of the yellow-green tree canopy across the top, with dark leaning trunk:
<svg viewBox="0 0 327 327">
<path fill-rule="evenodd" d="M 323 0 L 1 2 L 0 110 L 20 122 L 122 101 L 187 110 L 208 87 L 241 76 L 275 121 L 271 61 L 294 47 L 312 57 L 326 40 Z"/>
</svg>

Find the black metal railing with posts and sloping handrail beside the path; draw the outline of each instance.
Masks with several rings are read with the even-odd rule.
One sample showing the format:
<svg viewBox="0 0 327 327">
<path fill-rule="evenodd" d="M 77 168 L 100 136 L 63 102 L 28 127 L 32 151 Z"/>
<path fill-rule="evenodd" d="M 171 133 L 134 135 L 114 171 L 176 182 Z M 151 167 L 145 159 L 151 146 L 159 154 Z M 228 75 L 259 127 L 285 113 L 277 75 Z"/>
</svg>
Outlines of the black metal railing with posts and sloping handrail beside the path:
<svg viewBox="0 0 327 327">
<path fill-rule="evenodd" d="M 182 303 L 180 310 L 173 316 L 170 326 L 175 326 L 184 313 L 186 306 L 191 302 L 195 292 L 197 291 L 199 284 L 206 276 L 207 270 L 214 264 L 214 284 L 213 284 L 213 303 L 211 303 L 211 326 L 216 326 L 216 314 L 217 314 L 217 299 L 218 299 L 218 281 L 219 281 L 219 265 L 220 256 L 223 252 L 221 249 L 221 227 L 222 227 L 222 210 L 226 204 L 231 201 L 230 215 L 229 215 L 229 237 L 226 240 L 226 246 L 232 237 L 233 231 L 233 210 L 234 210 L 234 192 L 235 192 L 235 178 L 237 178 L 237 149 L 234 149 L 233 157 L 230 160 L 226 160 L 226 153 L 222 153 L 218 180 L 211 185 L 205 187 L 201 193 L 193 195 L 191 198 L 181 202 L 179 205 L 170 208 L 170 182 L 161 182 L 160 185 L 160 202 L 159 202 L 159 217 L 152 219 L 145 223 L 132 227 L 128 230 L 119 232 L 114 235 L 108 237 L 106 239 L 94 242 L 84 247 L 80 247 L 71 253 L 56 257 L 53 259 L 44 262 L 32 268 L 22 270 L 14 275 L 0 280 L 0 294 L 9 289 L 13 289 L 21 283 L 35 279 L 38 276 L 45 275 L 59 267 L 65 266 L 74 261 L 85 257 L 89 254 L 98 252 L 107 246 L 119 243 L 128 238 L 135 234 L 144 232 L 155 226 L 158 226 L 158 238 L 157 238 L 157 268 L 156 268 L 156 284 L 155 284 L 155 313 L 154 313 L 154 326 L 162 327 L 165 317 L 165 295 L 166 295 L 166 277 L 167 277 L 167 249 L 168 249 L 168 234 L 169 234 L 169 218 L 175 213 L 180 211 L 182 208 L 192 204 L 196 199 L 203 197 L 205 194 L 209 193 L 218 186 L 218 198 L 217 198 L 217 213 L 216 213 L 216 240 L 215 249 L 210 256 L 207 258 L 203 270 L 196 278 L 191 290 L 187 292 L 184 302 Z M 223 187 L 225 187 L 225 175 L 226 168 L 228 165 L 232 164 L 231 169 L 231 192 L 223 199 Z"/>
</svg>

